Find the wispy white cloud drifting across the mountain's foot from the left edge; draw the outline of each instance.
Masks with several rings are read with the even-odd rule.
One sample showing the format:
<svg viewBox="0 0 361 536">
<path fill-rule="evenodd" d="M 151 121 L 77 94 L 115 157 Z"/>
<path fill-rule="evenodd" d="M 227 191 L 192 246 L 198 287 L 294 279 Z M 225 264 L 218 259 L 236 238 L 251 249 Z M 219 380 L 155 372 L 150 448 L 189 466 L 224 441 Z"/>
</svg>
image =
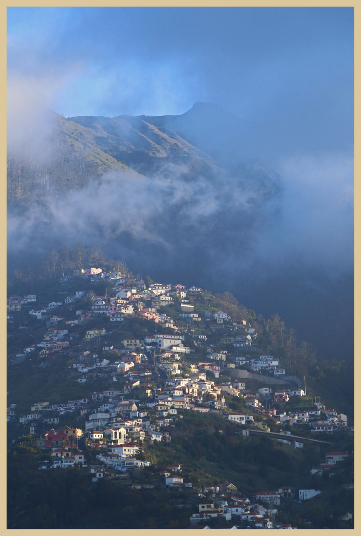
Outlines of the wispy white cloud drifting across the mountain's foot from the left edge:
<svg viewBox="0 0 361 536">
<path fill-rule="evenodd" d="M 258 213 L 274 212 L 275 199 L 265 202 L 274 188 L 271 177 L 250 186 L 242 176 L 220 182 L 203 176 L 187 182 L 181 176 L 183 169 L 173 165 L 152 178 L 108 173 L 65 199 L 48 196 L 21 215 L 9 213 L 9 250 L 26 249 L 30 243 L 33 250 L 41 248 L 44 233 L 54 241 L 96 240 L 105 248 L 118 243 L 121 249 L 126 235 L 139 255 L 141 244 L 150 249 L 157 245 L 171 262 L 180 252 L 187 262 L 197 256 L 199 246 L 208 246 L 209 254 L 220 259 L 232 250 L 237 257 L 247 233 L 262 223 Z"/>
</svg>

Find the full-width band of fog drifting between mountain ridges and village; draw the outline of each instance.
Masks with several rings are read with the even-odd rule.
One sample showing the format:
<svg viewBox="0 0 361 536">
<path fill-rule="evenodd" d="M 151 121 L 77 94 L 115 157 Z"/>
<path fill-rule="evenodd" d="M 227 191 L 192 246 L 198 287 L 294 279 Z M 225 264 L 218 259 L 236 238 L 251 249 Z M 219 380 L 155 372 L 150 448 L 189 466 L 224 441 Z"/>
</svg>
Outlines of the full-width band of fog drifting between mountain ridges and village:
<svg viewBox="0 0 361 536">
<path fill-rule="evenodd" d="M 188 279 L 191 266 L 194 277 L 209 274 L 208 285 L 222 274 L 267 278 L 289 264 L 332 277 L 352 271 L 351 155 L 305 155 L 276 170 L 239 166 L 220 181 L 187 182 L 183 174 L 170 165 L 150 178 L 108 173 L 66 198 L 50 192 L 9 212 L 9 251 L 96 241 L 154 272 L 166 263 L 168 277 L 182 267 Z"/>
</svg>

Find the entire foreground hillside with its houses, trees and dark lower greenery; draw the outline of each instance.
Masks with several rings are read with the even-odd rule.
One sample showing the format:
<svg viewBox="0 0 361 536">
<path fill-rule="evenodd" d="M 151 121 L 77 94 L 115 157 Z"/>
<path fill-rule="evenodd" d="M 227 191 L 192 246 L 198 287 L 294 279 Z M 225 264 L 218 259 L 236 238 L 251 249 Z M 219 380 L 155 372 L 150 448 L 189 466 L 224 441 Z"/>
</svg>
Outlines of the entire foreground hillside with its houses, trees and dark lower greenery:
<svg viewBox="0 0 361 536">
<path fill-rule="evenodd" d="M 7 311 L 9 528 L 258 528 L 255 511 L 273 528 L 352 528 L 350 370 L 278 315 L 143 281 L 81 244 L 18 272 Z"/>
</svg>

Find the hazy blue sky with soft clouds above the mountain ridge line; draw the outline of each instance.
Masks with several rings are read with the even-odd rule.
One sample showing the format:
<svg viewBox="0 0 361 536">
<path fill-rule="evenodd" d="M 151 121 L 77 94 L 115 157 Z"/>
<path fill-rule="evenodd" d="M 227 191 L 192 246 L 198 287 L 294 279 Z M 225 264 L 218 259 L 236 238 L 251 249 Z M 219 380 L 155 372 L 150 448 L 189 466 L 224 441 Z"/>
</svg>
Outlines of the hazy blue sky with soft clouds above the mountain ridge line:
<svg viewBox="0 0 361 536">
<path fill-rule="evenodd" d="M 181 114 L 205 101 L 255 125 L 260 143 L 276 131 L 280 147 L 290 139 L 308 151 L 352 147 L 352 8 L 8 8 L 7 16 L 9 80 L 65 116 Z"/>
</svg>

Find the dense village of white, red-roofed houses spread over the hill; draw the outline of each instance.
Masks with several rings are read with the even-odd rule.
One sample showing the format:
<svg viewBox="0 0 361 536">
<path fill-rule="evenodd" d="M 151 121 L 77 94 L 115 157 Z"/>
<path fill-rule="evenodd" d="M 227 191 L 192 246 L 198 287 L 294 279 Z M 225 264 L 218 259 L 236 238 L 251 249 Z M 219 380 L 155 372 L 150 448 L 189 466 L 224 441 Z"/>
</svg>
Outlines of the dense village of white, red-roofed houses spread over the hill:
<svg viewBox="0 0 361 536">
<path fill-rule="evenodd" d="M 72 399 L 49 392 L 24 407 L 21 393 L 8 387 L 12 442 L 30 438 L 42 449 L 47 459 L 39 470 L 78 467 L 92 483 L 121 478 L 135 489 L 156 482 L 185 491 L 195 510 L 190 528 L 297 528 L 282 520 L 282 505 L 310 501 L 322 493 L 325 473 L 342 473 L 350 453 L 332 443 L 353 432 L 348 416 L 310 396 L 289 363 L 265 354 L 250 317 L 214 307 L 199 287 L 145 284 L 94 267 L 63 277 L 58 288 L 46 301 L 35 294 L 7 299 L 9 371 L 25 364 L 44 374 L 56 369 L 76 392 Z M 217 417 L 234 434 L 265 434 L 289 448 L 304 449 L 313 439 L 318 452 L 326 448 L 309 468 L 319 486 L 280 481 L 245 497 L 233 482 L 187 478 L 177 459 L 154 464 L 153 449 L 170 445 L 192 415 Z M 148 479 L 137 483 L 142 473 Z M 348 523 L 352 513 L 340 519 Z"/>
</svg>

